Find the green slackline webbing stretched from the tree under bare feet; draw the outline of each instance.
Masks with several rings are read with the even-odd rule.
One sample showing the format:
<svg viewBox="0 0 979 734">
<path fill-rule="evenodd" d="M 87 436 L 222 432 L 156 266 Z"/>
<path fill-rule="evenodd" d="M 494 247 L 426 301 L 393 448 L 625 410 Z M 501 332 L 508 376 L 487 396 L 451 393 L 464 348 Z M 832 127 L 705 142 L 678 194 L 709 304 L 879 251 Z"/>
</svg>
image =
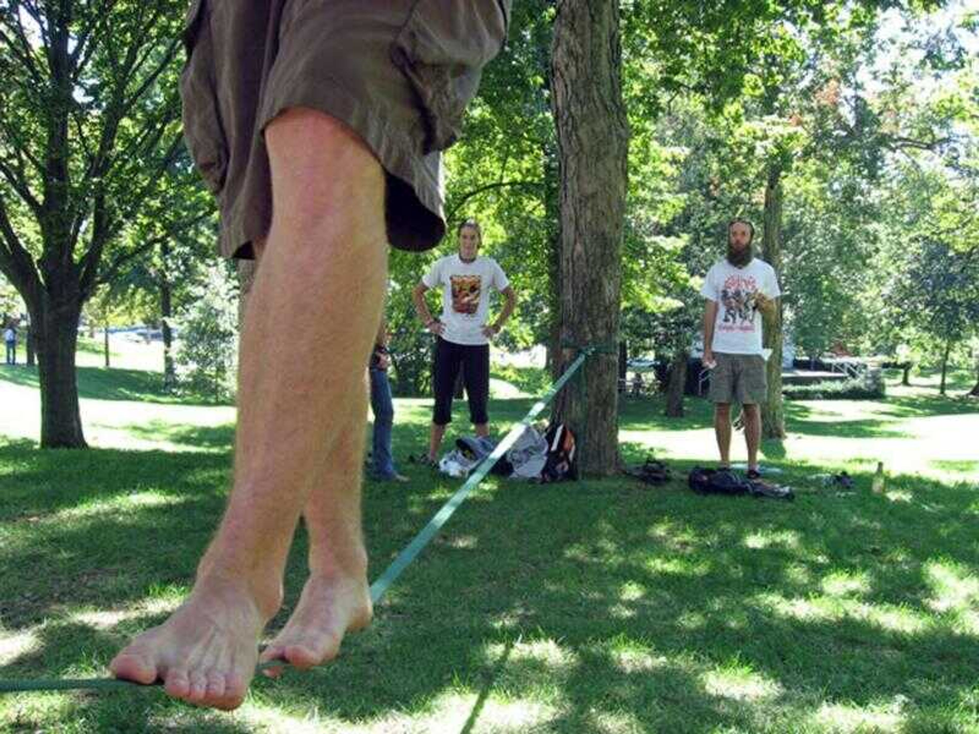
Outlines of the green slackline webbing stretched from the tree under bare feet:
<svg viewBox="0 0 979 734">
<path fill-rule="evenodd" d="M 578 354 L 578 358 L 571 363 L 571 366 L 565 370 L 564 374 L 561 375 L 560 379 L 551 389 L 544 394 L 539 400 L 534 403 L 534 407 L 530 409 L 524 420 L 510 429 L 503 440 L 499 442 L 496 448 L 493 449 L 492 453 L 483 460 L 483 462 L 476 468 L 476 471 L 470 476 L 466 482 L 460 486 L 448 501 L 442 506 L 442 509 L 436 513 L 435 517 L 429 521 L 428 525 L 421 529 L 421 531 L 415 535 L 410 543 L 408 543 L 404 549 L 397 554 L 396 559 L 391 563 L 391 565 L 385 569 L 377 580 L 370 585 L 370 599 L 371 602 L 377 604 L 381 597 L 384 596 L 385 592 L 391 587 L 395 582 L 396 578 L 403 572 L 417 557 L 418 554 L 422 552 L 422 549 L 431 542 L 432 538 L 435 537 L 436 533 L 448 522 L 448 519 L 452 517 L 452 514 L 461 505 L 466 497 L 469 496 L 470 492 L 476 488 L 476 486 L 482 482 L 486 476 L 489 474 L 489 470 L 496 464 L 503 454 L 505 454 L 512 446 L 517 438 L 520 437 L 524 430 L 531 425 L 531 422 L 540 414 L 547 403 L 554 399 L 554 395 L 557 394 L 558 390 L 564 387 L 572 375 L 574 375 L 578 369 L 583 365 L 584 360 L 591 354 L 601 351 L 600 346 L 587 345 L 583 346 Z M 268 661 L 266 663 L 259 663 L 256 665 L 256 673 L 265 670 L 269 667 L 291 667 L 289 663 L 281 660 Z M 119 689 L 131 689 L 131 688 L 152 688 L 154 686 L 163 685 L 162 681 L 156 681 L 154 683 L 143 684 L 136 683 L 131 680 L 120 680 L 119 678 L 49 678 L 43 679 L 38 678 L 36 680 L 0 680 L 0 694 L 3 693 L 21 693 L 25 691 L 76 691 L 76 690 L 93 690 L 93 691 L 109 691 L 109 690 L 119 690 Z"/>
</svg>

